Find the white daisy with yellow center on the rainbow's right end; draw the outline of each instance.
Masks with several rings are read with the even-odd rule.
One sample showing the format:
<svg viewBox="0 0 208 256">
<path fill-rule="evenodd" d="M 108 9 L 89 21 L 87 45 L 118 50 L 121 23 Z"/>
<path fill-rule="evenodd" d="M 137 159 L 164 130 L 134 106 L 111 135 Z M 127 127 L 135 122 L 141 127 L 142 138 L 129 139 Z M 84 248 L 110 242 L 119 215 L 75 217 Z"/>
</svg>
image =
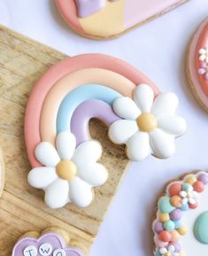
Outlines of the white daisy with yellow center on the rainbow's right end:
<svg viewBox="0 0 208 256">
<path fill-rule="evenodd" d="M 109 128 L 115 144 L 127 145 L 127 157 L 140 161 L 150 154 L 166 159 L 175 151 L 174 138 L 186 130 L 186 121 L 175 115 L 178 98 L 171 92 L 154 98 L 149 85 L 141 84 L 134 90 L 134 100 L 119 97 L 113 110 L 122 120 Z"/>
</svg>

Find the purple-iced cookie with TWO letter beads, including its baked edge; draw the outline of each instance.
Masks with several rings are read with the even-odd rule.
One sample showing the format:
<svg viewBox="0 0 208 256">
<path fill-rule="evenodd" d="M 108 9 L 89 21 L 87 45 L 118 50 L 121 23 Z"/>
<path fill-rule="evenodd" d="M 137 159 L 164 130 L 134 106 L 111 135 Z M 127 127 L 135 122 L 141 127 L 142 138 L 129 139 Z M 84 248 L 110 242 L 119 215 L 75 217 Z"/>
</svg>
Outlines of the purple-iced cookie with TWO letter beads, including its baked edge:
<svg viewBox="0 0 208 256">
<path fill-rule="evenodd" d="M 85 256 L 76 244 L 62 229 L 50 228 L 42 234 L 32 231 L 19 238 L 12 256 Z"/>
</svg>

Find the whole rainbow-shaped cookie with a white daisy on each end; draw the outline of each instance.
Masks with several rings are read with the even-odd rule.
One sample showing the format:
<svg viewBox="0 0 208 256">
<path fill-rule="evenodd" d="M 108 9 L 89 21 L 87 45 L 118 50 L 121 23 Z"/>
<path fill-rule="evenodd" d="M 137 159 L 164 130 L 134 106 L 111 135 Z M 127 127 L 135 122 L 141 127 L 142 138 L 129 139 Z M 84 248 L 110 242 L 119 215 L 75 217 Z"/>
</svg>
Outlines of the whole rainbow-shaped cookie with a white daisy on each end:
<svg viewBox="0 0 208 256">
<path fill-rule="evenodd" d="M 144 74 L 99 54 L 66 58 L 35 84 L 27 104 L 25 135 L 32 165 L 28 182 L 45 191 L 50 208 L 89 206 L 108 171 L 102 146 L 89 135 L 89 120 L 102 120 L 130 160 L 168 158 L 186 129 L 175 111 L 178 98 L 160 93 Z"/>
</svg>

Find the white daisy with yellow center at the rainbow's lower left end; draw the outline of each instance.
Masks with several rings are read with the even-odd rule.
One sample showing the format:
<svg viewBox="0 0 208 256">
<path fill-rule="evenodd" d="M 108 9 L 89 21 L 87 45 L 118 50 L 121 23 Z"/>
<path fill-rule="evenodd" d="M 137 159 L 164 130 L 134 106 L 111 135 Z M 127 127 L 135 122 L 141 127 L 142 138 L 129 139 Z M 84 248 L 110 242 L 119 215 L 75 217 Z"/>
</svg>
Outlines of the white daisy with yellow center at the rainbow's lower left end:
<svg viewBox="0 0 208 256">
<path fill-rule="evenodd" d="M 67 203 L 89 206 L 93 200 L 92 188 L 104 184 L 108 177 L 104 166 L 96 162 L 101 154 L 101 145 L 96 141 L 84 142 L 76 148 L 73 134 L 60 132 L 56 149 L 47 142 L 35 148 L 35 157 L 43 167 L 33 168 L 28 182 L 45 190 L 45 202 L 50 208 Z"/>
</svg>

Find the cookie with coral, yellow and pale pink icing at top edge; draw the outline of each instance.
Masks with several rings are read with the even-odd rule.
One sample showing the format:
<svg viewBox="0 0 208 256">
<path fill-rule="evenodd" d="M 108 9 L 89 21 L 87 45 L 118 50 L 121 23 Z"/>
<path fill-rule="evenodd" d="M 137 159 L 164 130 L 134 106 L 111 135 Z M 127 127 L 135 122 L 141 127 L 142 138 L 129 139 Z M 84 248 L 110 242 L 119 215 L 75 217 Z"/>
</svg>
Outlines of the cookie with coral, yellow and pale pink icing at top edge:
<svg viewBox="0 0 208 256">
<path fill-rule="evenodd" d="M 122 35 L 187 0 L 57 0 L 65 21 L 80 35 L 109 39 Z"/>
</svg>

